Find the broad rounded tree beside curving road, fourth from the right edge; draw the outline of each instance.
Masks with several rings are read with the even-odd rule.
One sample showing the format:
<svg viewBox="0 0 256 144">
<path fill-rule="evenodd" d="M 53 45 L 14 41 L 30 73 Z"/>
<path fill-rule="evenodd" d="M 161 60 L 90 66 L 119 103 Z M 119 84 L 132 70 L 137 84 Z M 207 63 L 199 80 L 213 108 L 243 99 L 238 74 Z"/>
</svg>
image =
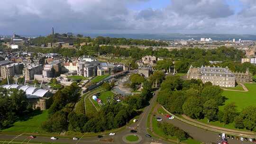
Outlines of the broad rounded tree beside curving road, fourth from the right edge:
<svg viewBox="0 0 256 144">
<path fill-rule="evenodd" d="M 202 118 L 203 106 L 200 97 L 190 96 L 182 106 L 185 115 L 191 118 Z"/>
</svg>

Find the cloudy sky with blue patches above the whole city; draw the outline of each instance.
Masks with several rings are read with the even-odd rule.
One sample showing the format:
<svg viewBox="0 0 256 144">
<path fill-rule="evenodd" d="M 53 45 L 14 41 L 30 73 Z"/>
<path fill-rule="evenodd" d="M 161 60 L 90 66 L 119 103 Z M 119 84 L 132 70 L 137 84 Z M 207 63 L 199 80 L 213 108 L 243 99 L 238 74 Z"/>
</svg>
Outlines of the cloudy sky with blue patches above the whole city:
<svg viewBox="0 0 256 144">
<path fill-rule="evenodd" d="M 256 0 L 0 0 L 0 35 L 256 34 Z"/>
</svg>

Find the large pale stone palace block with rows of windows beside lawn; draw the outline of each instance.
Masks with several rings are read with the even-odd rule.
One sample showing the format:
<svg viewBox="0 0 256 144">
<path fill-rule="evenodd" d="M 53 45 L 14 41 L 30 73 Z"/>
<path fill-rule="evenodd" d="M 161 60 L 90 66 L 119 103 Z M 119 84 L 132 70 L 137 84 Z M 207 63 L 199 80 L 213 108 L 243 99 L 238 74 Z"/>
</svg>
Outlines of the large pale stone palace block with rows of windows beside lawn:
<svg viewBox="0 0 256 144">
<path fill-rule="evenodd" d="M 197 67 L 190 66 L 187 72 L 187 80 L 200 79 L 203 83 L 210 81 L 213 85 L 220 87 L 235 87 L 236 77 L 228 67 Z"/>
</svg>

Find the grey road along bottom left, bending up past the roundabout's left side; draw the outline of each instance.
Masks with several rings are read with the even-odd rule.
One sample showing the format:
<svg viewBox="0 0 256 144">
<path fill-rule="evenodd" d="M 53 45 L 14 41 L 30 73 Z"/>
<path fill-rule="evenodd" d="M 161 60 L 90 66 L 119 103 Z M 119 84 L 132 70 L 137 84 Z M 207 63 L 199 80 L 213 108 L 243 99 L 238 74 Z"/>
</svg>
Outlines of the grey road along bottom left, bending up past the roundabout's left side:
<svg viewBox="0 0 256 144">
<path fill-rule="evenodd" d="M 102 139 L 113 139 L 113 144 L 126 144 L 123 141 L 123 136 L 127 135 L 127 134 L 131 134 L 130 133 L 130 127 L 137 127 L 137 135 L 141 136 L 141 141 L 138 144 L 150 144 L 150 142 L 159 142 L 162 144 L 169 144 L 167 142 L 164 142 L 162 140 L 159 139 L 155 139 L 155 138 L 149 138 L 146 137 L 145 135 L 147 134 L 147 130 L 146 130 L 146 122 L 147 122 L 147 116 L 150 112 L 150 110 L 153 107 L 153 104 L 156 101 L 156 96 L 157 96 L 157 91 L 155 96 L 150 100 L 150 105 L 147 106 L 144 109 L 144 112 L 140 115 L 140 117 L 138 118 L 138 121 L 134 124 L 132 124 L 129 127 L 126 127 L 124 130 L 117 132 L 117 135 L 114 136 L 109 136 L 109 135 L 103 135 L 102 138 L 98 138 L 97 136 L 94 137 L 90 137 L 90 138 L 82 138 L 79 141 L 74 141 L 70 138 L 63 138 L 63 137 L 59 137 L 58 140 L 51 140 L 50 137 L 44 137 L 44 136 L 37 136 L 35 139 L 29 139 L 28 136 L 26 135 L 21 135 L 18 136 L 14 141 L 23 141 L 24 144 L 27 144 L 27 142 L 29 141 L 29 143 L 33 143 L 33 142 L 57 142 L 57 143 L 66 143 L 66 144 L 105 144 L 105 143 L 111 143 L 111 142 L 102 142 Z M 0 140 L 12 140 L 16 135 L 0 135 Z M 21 143 L 21 144 L 23 144 Z M 7 143 L 5 143 L 7 144 Z"/>
</svg>

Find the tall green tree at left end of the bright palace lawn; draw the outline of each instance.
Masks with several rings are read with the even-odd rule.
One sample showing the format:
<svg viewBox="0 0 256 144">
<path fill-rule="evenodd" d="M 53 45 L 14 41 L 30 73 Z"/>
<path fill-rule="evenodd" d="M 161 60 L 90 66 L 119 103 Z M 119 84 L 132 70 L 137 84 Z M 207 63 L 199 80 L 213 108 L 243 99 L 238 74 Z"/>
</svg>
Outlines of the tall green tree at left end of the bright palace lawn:
<svg viewBox="0 0 256 144">
<path fill-rule="evenodd" d="M 214 99 L 209 99 L 203 104 L 204 117 L 209 121 L 215 121 L 218 117 L 219 105 Z"/>
</svg>

